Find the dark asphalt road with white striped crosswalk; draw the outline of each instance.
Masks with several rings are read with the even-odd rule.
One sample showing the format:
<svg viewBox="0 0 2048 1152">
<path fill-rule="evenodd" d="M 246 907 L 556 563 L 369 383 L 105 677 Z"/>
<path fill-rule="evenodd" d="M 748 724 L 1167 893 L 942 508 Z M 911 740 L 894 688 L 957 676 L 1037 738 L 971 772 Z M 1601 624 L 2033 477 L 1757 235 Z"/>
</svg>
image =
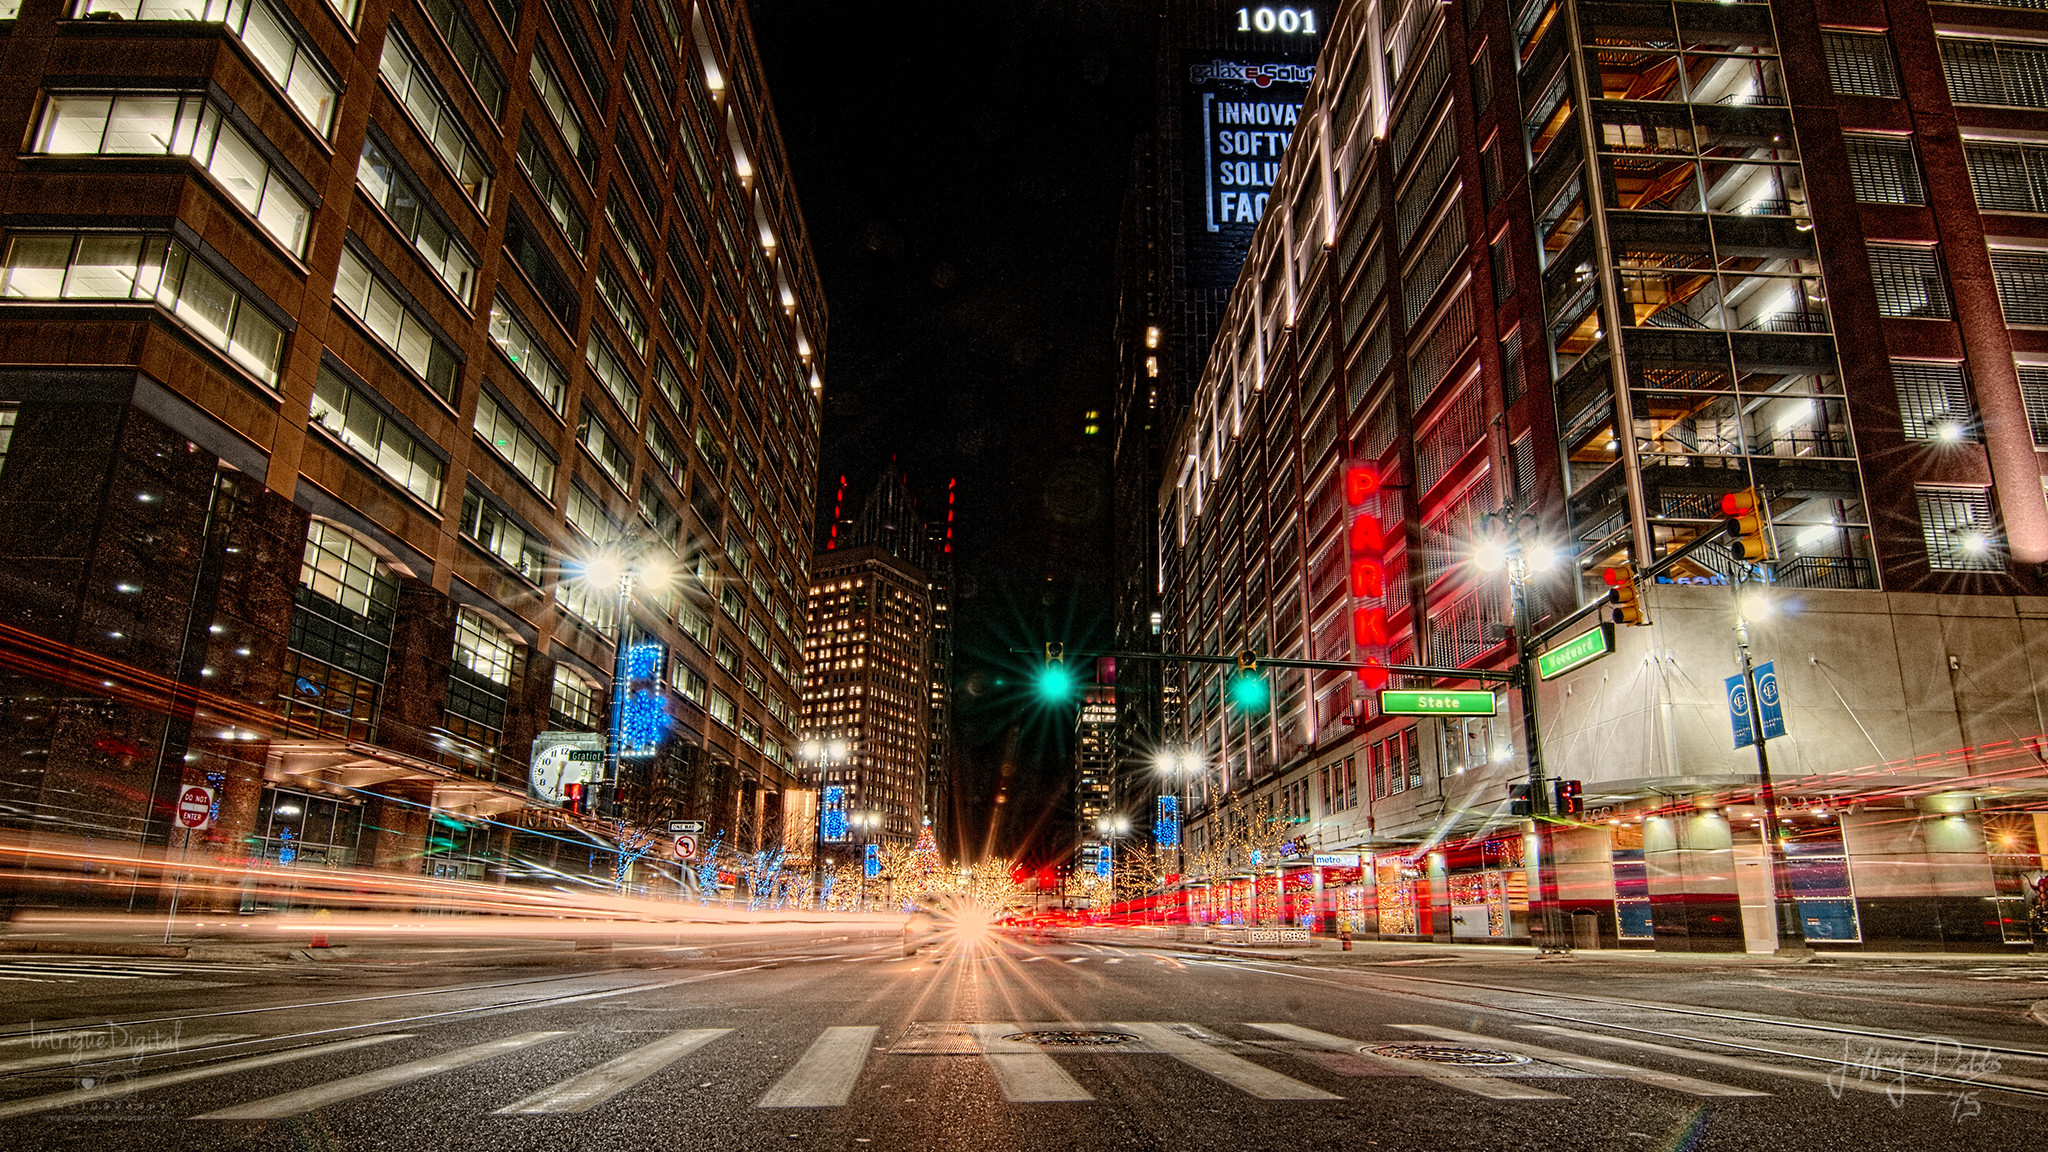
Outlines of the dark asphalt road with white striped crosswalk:
<svg viewBox="0 0 2048 1152">
<path fill-rule="evenodd" d="M 0 957 L 0 1148 L 2038 1148 L 2048 961 Z M 1937 1039 L 1946 1037 L 1946 1039 Z"/>
</svg>

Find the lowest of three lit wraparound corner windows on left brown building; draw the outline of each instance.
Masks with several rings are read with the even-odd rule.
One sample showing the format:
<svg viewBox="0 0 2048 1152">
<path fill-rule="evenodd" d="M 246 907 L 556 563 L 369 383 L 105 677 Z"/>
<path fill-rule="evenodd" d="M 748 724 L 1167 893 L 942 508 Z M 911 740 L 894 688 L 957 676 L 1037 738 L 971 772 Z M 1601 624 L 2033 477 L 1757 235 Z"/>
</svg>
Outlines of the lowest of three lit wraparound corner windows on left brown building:
<svg viewBox="0 0 2048 1152">
<path fill-rule="evenodd" d="M 264 383 L 285 359 L 285 330 L 168 236 L 16 232 L 0 299 L 147 299 Z"/>
</svg>

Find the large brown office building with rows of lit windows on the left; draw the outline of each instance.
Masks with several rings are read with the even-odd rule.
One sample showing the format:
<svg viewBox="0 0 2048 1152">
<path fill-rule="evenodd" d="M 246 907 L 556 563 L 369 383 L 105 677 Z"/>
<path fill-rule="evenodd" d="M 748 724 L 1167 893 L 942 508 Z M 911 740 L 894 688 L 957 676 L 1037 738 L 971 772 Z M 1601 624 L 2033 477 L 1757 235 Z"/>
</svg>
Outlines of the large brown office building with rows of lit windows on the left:
<svg viewBox="0 0 2048 1152">
<path fill-rule="evenodd" d="M 0 820 L 479 875 L 623 631 L 618 812 L 772 840 L 825 307 L 745 6 L 0 8 Z"/>
</svg>

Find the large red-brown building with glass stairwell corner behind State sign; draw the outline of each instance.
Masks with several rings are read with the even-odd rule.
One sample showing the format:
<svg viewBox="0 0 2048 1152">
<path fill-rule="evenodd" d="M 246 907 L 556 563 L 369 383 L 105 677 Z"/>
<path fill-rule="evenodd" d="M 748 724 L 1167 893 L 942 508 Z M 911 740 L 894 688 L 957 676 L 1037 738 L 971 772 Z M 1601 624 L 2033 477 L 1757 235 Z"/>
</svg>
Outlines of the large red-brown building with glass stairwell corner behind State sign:
<svg viewBox="0 0 2048 1152">
<path fill-rule="evenodd" d="M 2025 943 L 2042 43 L 2017 2 L 1341 4 L 1171 433 L 1165 648 L 1509 666 L 1493 545 L 1520 541 L 1540 627 L 1753 490 L 1763 558 L 1702 545 L 1642 588 L 1647 627 L 1540 685 L 1546 771 L 1585 804 L 1550 832 L 1575 937 L 1769 949 L 1776 838 L 1808 941 Z M 1743 652 L 1782 709 L 1778 828 L 1729 726 Z M 1352 672 L 1266 668 L 1241 711 L 1227 674 L 1171 672 L 1196 849 L 1249 797 L 1362 857 L 1323 877 L 1333 927 L 1530 937 L 1516 693 L 1384 715 Z M 1253 906 L 1212 879 L 1198 906 Z"/>
</svg>

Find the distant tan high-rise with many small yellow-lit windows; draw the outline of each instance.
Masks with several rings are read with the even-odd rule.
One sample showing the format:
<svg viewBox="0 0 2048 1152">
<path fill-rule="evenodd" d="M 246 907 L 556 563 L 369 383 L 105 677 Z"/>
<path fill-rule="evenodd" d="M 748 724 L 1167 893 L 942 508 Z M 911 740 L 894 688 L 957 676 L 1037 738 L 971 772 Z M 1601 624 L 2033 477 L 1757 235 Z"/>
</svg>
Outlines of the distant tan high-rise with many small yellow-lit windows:
<svg viewBox="0 0 2048 1152">
<path fill-rule="evenodd" d="M 852 838 L 909 845 L 928 818 L 930 578 L 881 545 L 842 543 L 811 562 L 805 621 L 803 736 L 846 748 L 819 758 L 819 785 L 844 789 Z"/>
</svg>

